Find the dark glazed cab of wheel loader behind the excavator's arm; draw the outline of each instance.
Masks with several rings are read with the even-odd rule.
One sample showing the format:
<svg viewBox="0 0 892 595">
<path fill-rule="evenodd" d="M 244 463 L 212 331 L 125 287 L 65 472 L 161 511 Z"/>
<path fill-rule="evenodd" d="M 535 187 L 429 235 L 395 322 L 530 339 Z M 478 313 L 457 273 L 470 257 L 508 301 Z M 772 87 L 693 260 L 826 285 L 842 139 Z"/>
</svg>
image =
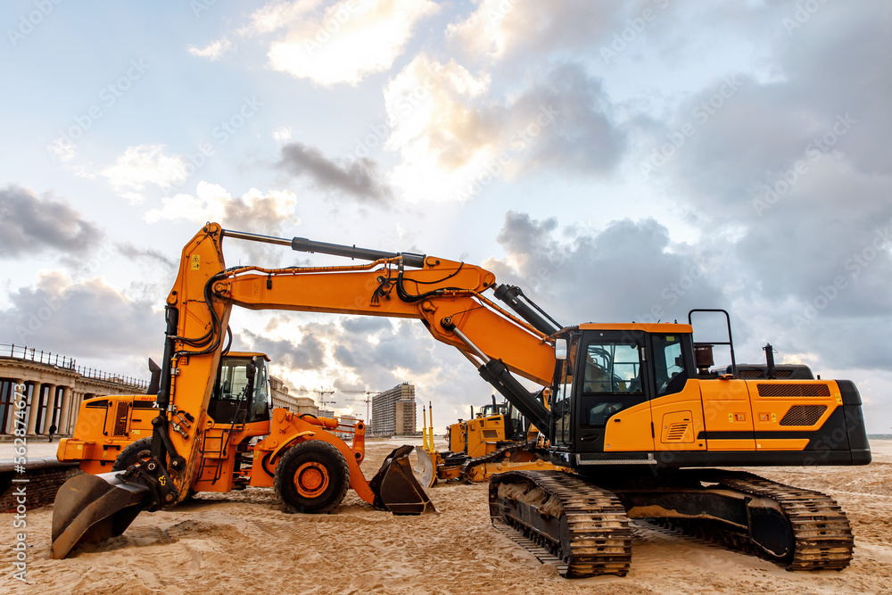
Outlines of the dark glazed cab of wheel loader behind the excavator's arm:
<svg viewBox="0 0 892 595">
<path fill-rule="evenodd" d="M 263 353 L 230 351 L 220 358 L 208 414 L 216 424 L 269 421 L 269 358 Z"/>
</svg>

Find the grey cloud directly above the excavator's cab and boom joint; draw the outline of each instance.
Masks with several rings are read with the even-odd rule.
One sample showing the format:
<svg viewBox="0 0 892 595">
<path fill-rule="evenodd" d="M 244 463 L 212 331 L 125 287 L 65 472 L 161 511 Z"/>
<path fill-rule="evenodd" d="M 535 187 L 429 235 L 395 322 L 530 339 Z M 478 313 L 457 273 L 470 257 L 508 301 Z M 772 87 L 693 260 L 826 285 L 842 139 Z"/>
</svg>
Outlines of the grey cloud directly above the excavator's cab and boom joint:
<svg viewBox="0 0 892 595">
<path fill-rule="evenodd" d="M 672 245 L 654 219 L 615 221 L 599 233 L 571 228 L 562 242 L 557 230 L 557 219 L 508 211 L 498 236 L 507 258 L 484 264 L 561 324 L 681 319 L 724 302 L 709 261 Z"/>
</svg>

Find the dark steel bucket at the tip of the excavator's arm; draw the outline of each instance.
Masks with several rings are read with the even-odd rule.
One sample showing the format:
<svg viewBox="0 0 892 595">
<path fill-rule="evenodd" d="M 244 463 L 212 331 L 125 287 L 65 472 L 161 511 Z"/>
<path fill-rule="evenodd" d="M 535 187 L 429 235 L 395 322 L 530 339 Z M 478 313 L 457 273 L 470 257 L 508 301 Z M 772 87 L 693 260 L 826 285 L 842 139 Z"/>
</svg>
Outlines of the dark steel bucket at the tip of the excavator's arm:
<svg viewBox="0 0 892 595">
<path fill-rule="evenodd" d="M 124 533 L 149 505 L 145 483 L 125 483 L 118 475 L 77 475 L 62 484 L 53 507 L 54 559 L 65 558 L 78 543 L 99 543 Z"/>
</svg>

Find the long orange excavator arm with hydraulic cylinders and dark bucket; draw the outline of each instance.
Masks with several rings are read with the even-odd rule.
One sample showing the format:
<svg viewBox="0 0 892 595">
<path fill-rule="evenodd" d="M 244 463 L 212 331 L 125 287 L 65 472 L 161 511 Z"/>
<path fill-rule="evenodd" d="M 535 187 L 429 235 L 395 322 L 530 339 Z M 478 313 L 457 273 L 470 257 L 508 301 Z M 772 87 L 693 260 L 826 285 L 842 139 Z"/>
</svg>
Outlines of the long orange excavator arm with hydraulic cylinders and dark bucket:
<svg viewBox="0 0 892 595">
<path fill-rule="evenodd" d="M 340 267 L 227 269 L 222 251 L 227 236 L 371 261 Z M 553 344 L 542 330 L 483 295 L 494 288 L 490 271 L 463 262 L 256 236 L 207 224 L 183 249 L 166 301 L 152 457 L 124 474 L 82 480 L 87 483 L 77 494 L 62 499 L 70 502 L 54 516 L 54 557 L 64 557 L 85 534 L 93 533 L 94 539 L 96 534 L 120 534 L 140 510 L 169 507 L 186 498 L 200 465 L 203 435 L 214 423 L 209 402 L 234 305 L 416 318 L 435 339 L 461 351 L 536 426 L 548 428 L 548 409 L 510 373 L 549 385 L 555 367 Z M 184 419 L 189 421 L 174 431 L 174 421 Z"/>
</svg>

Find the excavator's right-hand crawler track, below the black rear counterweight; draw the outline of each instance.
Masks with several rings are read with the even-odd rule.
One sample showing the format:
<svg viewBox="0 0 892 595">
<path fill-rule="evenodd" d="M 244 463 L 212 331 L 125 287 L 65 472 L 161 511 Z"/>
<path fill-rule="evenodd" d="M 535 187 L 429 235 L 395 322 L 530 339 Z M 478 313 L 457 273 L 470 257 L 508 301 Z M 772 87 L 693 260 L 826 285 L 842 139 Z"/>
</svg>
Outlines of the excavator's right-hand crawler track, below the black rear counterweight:
<svg viewBox="0 0 892 595">
<path fill-rule="evenodd" d="M 821 492 L 794 488 L 746 472 L 717 471 L 707 481 L 754 497 L 775 500 L 789 522 L 792 551 L 778 559 L 757 547 L 746 535 L 717 523 L 685 519 L 660 519 L 683 533 L 720 543 L 730 550 L 756 554 L 778 562 L 787 570 L 842 570 L 852 560 L 855 541 L 846 513 L 835 500 Z"/>
</svg>

